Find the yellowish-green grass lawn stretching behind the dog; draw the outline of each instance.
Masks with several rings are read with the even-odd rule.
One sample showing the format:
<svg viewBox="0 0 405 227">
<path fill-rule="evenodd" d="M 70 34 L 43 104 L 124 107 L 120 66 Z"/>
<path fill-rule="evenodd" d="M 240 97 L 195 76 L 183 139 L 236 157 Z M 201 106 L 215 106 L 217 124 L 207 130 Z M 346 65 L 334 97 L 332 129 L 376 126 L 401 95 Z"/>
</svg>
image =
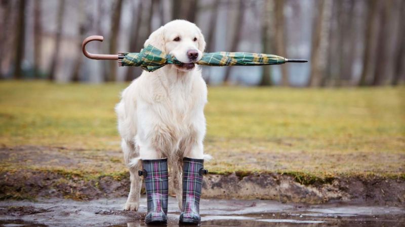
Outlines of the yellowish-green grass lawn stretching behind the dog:
<svg viewBox="0 0 405 227">
<path fill-rule="evenodd" d="M 0 145 L 51 147 L 3 155 L 0 167 L 121 176 L 113 107 L 126 86 L 0 82 Z M 404 177 L 404 97 L 405 87 L 211 87 L 205 150 L 215 159 L 207 168 L 290 174 L 304 182 Z M 46 153 L 54 158 L 42 159 Z"/>
</svg>

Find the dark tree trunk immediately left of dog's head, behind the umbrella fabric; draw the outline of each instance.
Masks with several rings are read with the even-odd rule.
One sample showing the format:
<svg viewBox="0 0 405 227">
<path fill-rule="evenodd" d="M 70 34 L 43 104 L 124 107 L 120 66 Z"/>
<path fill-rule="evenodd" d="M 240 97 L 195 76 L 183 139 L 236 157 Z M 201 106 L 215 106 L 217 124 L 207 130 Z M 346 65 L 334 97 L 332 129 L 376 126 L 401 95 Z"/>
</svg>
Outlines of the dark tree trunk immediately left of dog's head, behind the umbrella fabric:
<svg viewBox="0 0 405 227">
<path fill-rule="evenodd" d="M 161 4 L 161 3 L 160 3 Z M 141 19 L 142 19 L 142 1 L 138 1 L 136 9 L 133 9 L 133 12 L 136 12 L 133 15 L 136 15 L 136 19 L 132 18 L 131 23 L 131 37 L 130 37 L 130 52 L 137 52 L 140 50 L 138 46 L 138 39 L 140 37 L 140 28 L 141 28 Z M 134 7 L 135 8 L 135 7 Z M 163 16 L 163 15 L 161 15 Z M 125 81 L 132 81 L 136 78 L 136 67 L 128 67 L 127 76 L 125 77 Z"/>
</svg>

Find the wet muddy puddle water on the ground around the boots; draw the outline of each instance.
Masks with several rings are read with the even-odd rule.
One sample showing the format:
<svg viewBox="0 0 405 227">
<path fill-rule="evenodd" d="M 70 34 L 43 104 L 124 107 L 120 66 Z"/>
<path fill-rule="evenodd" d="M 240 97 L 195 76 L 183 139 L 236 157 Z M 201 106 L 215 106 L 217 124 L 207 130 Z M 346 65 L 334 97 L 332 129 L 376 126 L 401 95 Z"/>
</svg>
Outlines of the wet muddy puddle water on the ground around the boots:
<svg viewBox="0 0 405 227">
<path fill-rule="evenodd" d="M 139 212 L 122 211 L 125 198 L 78 202 L 64 199 L 0 202 L 3 226 L 145 226 L 146 199 Z M 169 198 L 168 226 L 179 226 Z M 345 203 L 303 205 L 269 200 L 203 200 L 201 226 L 405 226 L 405 209 Z"/>
</svg>

